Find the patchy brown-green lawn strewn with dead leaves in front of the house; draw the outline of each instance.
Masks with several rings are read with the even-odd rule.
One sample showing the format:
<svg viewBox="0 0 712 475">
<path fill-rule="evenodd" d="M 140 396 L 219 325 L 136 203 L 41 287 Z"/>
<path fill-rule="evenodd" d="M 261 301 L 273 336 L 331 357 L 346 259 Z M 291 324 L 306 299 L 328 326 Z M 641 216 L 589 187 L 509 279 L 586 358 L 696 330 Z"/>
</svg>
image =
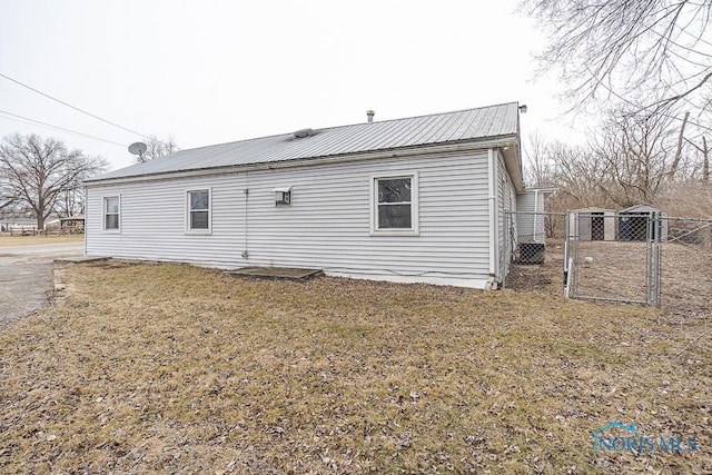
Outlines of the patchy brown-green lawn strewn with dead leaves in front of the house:
<svg viewBox="0 0 712 475">
<path fill-rule="evenodd" d="M 0 334 L 3 473 L 712 472 L 709 319 L 187 265 L 67 275 L 67 300 Z M 613 420 L 699 448 L 594 454 Z"/>
</svg>

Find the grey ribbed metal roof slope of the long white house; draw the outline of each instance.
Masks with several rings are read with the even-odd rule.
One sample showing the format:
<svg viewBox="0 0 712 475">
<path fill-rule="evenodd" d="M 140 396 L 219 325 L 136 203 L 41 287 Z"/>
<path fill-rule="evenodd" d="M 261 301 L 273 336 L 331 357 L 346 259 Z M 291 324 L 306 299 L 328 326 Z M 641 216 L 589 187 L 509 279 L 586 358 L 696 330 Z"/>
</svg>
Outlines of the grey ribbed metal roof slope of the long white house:
<svg viewBox="0 0 712 475">
<path fill-rule="evenodd" d="M 402 149 L 512 136 L 518 140 L 518 103 L 466 109 L 406 119 L 315 129 L 180 150 L 145 164 L 110 171 L 88 182 L 176 171 L 246 166 Z M 518 144 L 518 142 L 517 142 Z"/>
</svg>

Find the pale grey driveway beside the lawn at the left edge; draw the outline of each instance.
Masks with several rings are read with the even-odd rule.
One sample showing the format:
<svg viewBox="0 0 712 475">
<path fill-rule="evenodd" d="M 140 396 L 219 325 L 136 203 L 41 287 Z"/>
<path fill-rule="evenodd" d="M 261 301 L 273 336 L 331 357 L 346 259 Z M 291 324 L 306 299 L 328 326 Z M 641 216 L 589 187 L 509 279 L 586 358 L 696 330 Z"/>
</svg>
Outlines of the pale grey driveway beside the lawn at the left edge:
<svg viewBox="0 0 712 475">
<path fill-rule="evenodd" d="M 0 247 L 0 329 L 47 301 L 55 258 L 82 254 L 82 243 Z"/>
</svg>

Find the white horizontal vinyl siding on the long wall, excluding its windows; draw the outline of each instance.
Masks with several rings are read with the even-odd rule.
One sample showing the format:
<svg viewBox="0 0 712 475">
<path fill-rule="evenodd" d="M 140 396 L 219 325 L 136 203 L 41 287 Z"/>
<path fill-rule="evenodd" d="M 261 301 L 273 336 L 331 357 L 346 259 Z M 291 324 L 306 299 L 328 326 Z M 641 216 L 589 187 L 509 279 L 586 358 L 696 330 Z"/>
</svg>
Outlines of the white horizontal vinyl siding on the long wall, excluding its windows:
<svg viewBox="0 0 712 475">
<path fill-rule="evenodd" d="M 375 237 L 374 177 L 397 176 L 417 177 L 418 236 Z M 291 206 L 275 206 L 280 184 L 291 187 Z M 187 235 L 186 190 L 205 188 L 211 234 Z M 488 278 L 486 150 L 92 186 L 89 217 L 111 192 L 121 194 L 121 234 L 100 235 L 88 219 L 88 255 L 473 287 Z"/>
</svg>

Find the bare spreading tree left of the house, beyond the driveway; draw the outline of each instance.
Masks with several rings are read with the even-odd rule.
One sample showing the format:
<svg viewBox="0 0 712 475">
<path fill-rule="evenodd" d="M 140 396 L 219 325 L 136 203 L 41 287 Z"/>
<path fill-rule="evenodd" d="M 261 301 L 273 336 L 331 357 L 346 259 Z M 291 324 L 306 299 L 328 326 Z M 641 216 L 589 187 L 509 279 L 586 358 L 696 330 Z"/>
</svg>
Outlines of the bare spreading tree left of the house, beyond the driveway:
<svg viewBox="0 0 712 475">
<path fill-rule="evenodd" d="M 99 157 L 68 150 L 61 140 L 36 135 L 8 136 L 0 144 L 0 182 L 37 216 L 37 227 L 55 210 L 63 190 L 106 169 Z"/>
</svg>

